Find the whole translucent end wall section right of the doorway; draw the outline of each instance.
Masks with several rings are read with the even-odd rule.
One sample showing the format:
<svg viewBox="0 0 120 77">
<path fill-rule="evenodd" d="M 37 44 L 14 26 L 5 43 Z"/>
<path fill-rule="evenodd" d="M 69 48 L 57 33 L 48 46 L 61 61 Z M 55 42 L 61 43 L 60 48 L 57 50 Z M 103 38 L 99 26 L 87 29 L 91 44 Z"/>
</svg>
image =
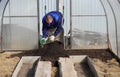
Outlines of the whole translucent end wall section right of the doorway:
<svg viewBox="0 0 120 77">
<path fill-rule="evenodd" d="M 106 49 L 107 21 L 100 0 L 72 0 L 72 49 Z"/>
</svg>

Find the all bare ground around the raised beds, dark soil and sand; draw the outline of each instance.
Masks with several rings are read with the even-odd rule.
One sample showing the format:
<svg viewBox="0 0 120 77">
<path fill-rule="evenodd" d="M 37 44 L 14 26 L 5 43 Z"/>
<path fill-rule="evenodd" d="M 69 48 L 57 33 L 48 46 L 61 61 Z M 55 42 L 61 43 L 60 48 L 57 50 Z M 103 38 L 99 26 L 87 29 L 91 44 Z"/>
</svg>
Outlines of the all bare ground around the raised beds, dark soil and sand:
<svg viewBox="0 0 120 77">
<path fill-rule="evenodd" d="M 49 60 L 53 66 L 58 67 L 58 58 L 69 55 L 88 55 L 93 59 L 100 77 L 120 76 L 120 65 L 108 50 L 64 50 L 63 44 L 55 42 L 40 50 L 0 53 L 0 77 L 11 77 L 22 56 L 41 56 L 43 61 Z"/>
</svg>

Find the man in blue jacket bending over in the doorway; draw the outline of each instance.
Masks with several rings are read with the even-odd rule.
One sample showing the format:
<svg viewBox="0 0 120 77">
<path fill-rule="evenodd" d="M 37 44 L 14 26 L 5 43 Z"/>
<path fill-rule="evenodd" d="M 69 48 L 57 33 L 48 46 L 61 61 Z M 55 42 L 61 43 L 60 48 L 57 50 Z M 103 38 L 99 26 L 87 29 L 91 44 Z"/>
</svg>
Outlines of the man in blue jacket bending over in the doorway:
<svg viewBox="0 0 120 77">
<path fill-rule="evenodd" d="M 58 11 L 47 13 L 42 19 L 42 39 L 45 42 L 59 41 L 63 42 L 63 16 Z"/>
</svg>

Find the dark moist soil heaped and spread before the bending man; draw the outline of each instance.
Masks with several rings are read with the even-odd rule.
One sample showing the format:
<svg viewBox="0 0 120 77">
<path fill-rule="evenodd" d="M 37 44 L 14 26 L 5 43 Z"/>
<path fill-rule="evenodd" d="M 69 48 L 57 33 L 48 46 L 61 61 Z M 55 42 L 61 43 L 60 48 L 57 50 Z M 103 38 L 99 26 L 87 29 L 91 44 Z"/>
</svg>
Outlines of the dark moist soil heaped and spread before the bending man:
<svg viewBox="0 0 120 77">
<path fill-rule="evenodd" d="M 51 61 L 53 66 L 57 66 L 59 57 L 69 57 L 69 55 L 88 55 L 90 58 L 98 58 L 107 61 L 113 58 L 108 49 L 87 49 L 87 50 L 65 50 L 64 45 L 53 42 L 45 45 L 39 50 L 23 51 L 22 53 L 11 55 L 11 57 L 19 56 L 41 56 L 43 61 Z"/>
</svg>

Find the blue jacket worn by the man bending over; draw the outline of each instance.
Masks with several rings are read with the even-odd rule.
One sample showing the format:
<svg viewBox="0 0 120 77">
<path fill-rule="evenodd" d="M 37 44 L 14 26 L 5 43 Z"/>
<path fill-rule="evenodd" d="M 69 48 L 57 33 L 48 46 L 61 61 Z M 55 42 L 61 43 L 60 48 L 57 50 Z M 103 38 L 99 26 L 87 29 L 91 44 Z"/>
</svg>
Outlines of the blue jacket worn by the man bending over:
<svg viewBox="0 0 120 77">
<path fill-rule="evenodd" d="M 48 24 L 46 22 L 46 17 L 50 15 L 53 18 L 53 21 L 51 24 Z M 57 11 L 52 11 L 47 13 L 43 19 L 42 19 L 43 27 L 42 27 L 42 32 L 43 32 L 43 37 L 48 37 L 48 30 L 51 28 L 57 28 L 56 31 L 54 32 L 54 36 L 57 36 L 62 30 L 62 14 Z"/>
</svg>

